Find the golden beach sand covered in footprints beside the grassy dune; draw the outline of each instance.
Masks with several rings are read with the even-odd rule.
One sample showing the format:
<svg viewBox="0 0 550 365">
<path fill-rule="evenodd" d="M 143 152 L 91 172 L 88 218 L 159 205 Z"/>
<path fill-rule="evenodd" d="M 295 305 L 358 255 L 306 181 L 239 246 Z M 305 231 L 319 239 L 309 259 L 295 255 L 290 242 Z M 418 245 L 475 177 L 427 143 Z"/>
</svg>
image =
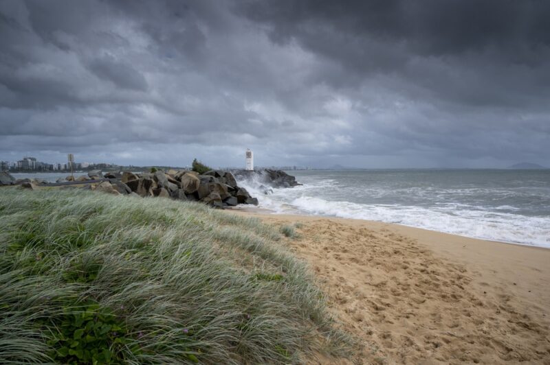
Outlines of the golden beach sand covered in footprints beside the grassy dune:
<svg viewBox="0 0 550 365">
<path fill-rule="evenodd" d="M 364 220 L 232 213 L 301 224 L 285 241 L 358 339 L 353 363 L 550 364 L 550 249 Z"/>
</svg>

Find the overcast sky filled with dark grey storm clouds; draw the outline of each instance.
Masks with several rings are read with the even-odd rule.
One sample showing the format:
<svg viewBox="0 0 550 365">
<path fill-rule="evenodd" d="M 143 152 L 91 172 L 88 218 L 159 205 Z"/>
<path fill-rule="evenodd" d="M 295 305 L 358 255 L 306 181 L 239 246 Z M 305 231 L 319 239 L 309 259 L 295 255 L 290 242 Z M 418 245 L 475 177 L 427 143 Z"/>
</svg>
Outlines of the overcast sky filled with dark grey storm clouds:
<svg viewBox="0 0 550 365">
<path fill-rule="evenodd" d="M 550 165 L 550 1 L 0 1 L 0 159 Z"/>
</svg>

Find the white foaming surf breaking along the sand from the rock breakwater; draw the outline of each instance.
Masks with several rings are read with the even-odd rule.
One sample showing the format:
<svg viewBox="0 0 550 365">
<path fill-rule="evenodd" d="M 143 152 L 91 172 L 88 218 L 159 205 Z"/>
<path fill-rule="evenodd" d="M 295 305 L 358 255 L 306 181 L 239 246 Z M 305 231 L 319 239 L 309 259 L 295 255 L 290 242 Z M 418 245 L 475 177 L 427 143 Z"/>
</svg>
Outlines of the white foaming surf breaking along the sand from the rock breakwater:
<svg viewBox="0 0 550 365">
<path fill-rule="evenodd" d="M 514 214 L 515 207 L 500 206 L 487 211 L 482 206 L 441 202 L 434 207 L 399 204 L 359 204 L 319 198 L 324 189 L 338 187 L 336 180 L 318 180 L 292 189 L 267 189 L 259 180 L 241 180 L 259 207 L 274 213 L 302 213 L 373 220 L 430 229 L 499 242 L 550 248 L 550 217 Z M 267 192 L 267 193 L 266 193 Z"/>
</svg>

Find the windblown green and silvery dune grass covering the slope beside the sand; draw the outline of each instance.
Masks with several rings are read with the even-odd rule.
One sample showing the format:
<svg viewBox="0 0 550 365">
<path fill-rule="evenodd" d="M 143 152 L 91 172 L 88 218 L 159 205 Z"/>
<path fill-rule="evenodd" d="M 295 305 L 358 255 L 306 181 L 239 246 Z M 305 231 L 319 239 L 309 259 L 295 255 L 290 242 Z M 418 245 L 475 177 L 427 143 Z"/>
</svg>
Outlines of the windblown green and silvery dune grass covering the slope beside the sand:
<svg viewBox="0 0 550 365">
<path fill-rule="evenodd" d="M 0 189 L 0 363 L 346 355 L 307 267 L 254 218 L 164 198 Z"/>
</svg>

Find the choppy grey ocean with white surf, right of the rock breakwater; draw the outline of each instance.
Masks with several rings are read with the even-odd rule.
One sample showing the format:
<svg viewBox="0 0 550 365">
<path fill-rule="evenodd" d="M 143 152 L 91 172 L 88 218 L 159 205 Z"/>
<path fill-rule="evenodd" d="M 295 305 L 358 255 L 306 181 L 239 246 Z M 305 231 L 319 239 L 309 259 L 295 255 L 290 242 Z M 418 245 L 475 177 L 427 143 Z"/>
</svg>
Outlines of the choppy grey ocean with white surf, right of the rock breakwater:
<svg viewBox="0 0 550 365">
<path fill-rule="evenodd" d="M 241 181 L 273 213 L 355 218 L 550 248 L 550 169 L 289 171 L 303 186 Z"/>
</svg>

